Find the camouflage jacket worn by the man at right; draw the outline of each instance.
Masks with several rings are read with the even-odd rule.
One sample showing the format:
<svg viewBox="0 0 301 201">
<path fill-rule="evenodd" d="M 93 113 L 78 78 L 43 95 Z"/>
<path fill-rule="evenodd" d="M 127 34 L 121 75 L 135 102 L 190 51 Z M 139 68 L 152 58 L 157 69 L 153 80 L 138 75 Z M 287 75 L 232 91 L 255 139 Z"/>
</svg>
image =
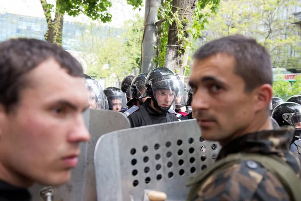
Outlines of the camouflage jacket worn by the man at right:
<svg viewBox="0 0 301 201">
<path fill-rule="evenodd" d="M 289 152 L 294 128 L 259 131 L 246 134 L 224 146 L 217 159 L 233 153 L 275 154 L 284 160 L 299 177 L 300 165 Z M 289 200 L 278 178 L 260 164 L 240 163 L 209 176 L 205 182 L 192 186 L 191 200 Z M 301 190 L 301 188 L 300 188 Z"/>
</svg>

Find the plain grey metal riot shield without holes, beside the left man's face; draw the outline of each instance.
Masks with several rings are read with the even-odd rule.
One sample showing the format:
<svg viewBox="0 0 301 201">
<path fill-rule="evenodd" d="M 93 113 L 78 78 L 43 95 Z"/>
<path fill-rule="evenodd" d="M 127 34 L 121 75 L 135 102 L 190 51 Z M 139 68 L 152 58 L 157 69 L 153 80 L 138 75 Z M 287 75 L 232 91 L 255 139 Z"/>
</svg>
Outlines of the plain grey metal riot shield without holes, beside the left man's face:
<svg viewBox="0 0 301 201">
<path fill-rule="evenodd" d="M 71 179 L 64 185 L 52 187 L 53 199 L 49 200 L 96 200 L 95 171 L 93 164 L 96 142 L 99 137 L 105 133 L 130 128 L 128 119 L 119 112 L 88 110 L 84 113 L 84 119 L 91 134 L 91 140 L 80 145 L 81 155 L 78 165 L 71 172 Z M 46 187 L 47 186 L 39 184 L 35 184 L 31 187 L 32 200 L 43 200 L 40 191 Z M 48 201 L 48 199 L 45 200 Z"/>
</svg>

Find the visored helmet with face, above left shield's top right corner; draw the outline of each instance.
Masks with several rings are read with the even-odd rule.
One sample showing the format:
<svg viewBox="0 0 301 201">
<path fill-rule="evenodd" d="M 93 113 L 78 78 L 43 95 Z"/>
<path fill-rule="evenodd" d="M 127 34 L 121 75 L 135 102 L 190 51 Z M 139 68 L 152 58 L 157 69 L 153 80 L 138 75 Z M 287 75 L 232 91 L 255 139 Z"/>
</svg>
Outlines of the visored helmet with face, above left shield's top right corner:
<svg viewBox="0 0 301 201">
<path fill-rule="evenodd" d="M 126 95 L 117 87 L 106 87 L 103 90 L 108 99 L 109 110 L 119 111 L 126 108 Z"/>
</svg>

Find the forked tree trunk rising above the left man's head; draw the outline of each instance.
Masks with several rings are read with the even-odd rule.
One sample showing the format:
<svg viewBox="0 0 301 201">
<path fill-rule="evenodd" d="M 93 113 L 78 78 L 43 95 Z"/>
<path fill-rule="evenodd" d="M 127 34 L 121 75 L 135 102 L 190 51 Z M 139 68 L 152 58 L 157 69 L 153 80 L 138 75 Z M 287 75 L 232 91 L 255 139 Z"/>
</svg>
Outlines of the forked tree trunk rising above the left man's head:
<svg viewBox="0 0 301 201">
<path fill-rule="evenodd" d="M 59 8 L 57 7 L 55 11 L 55 18 L 52 20 L 49 4 L 47 4 L 46 0 L 41 0 L 41 4 L 44 10 L 48 28 L 46 34 L 44 35 L 45 40 L 62 46 L 64 14 L 60 12 Z"/>
</svg>

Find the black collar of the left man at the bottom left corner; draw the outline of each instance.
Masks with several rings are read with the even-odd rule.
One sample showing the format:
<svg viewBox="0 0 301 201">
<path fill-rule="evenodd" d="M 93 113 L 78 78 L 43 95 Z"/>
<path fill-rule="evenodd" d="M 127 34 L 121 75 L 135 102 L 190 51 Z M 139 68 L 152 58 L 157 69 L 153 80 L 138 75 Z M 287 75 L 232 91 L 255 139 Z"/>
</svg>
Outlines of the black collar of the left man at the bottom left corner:
<svg viewBox="0 0 301 201">
<path fill-rule="evenodd" d="M 26 188 L 13 186 L 3 180 L 0 180 L 0 200 L 18 200 L 18 201 L 29 201 L 31 195 Z"/>
</svg>

